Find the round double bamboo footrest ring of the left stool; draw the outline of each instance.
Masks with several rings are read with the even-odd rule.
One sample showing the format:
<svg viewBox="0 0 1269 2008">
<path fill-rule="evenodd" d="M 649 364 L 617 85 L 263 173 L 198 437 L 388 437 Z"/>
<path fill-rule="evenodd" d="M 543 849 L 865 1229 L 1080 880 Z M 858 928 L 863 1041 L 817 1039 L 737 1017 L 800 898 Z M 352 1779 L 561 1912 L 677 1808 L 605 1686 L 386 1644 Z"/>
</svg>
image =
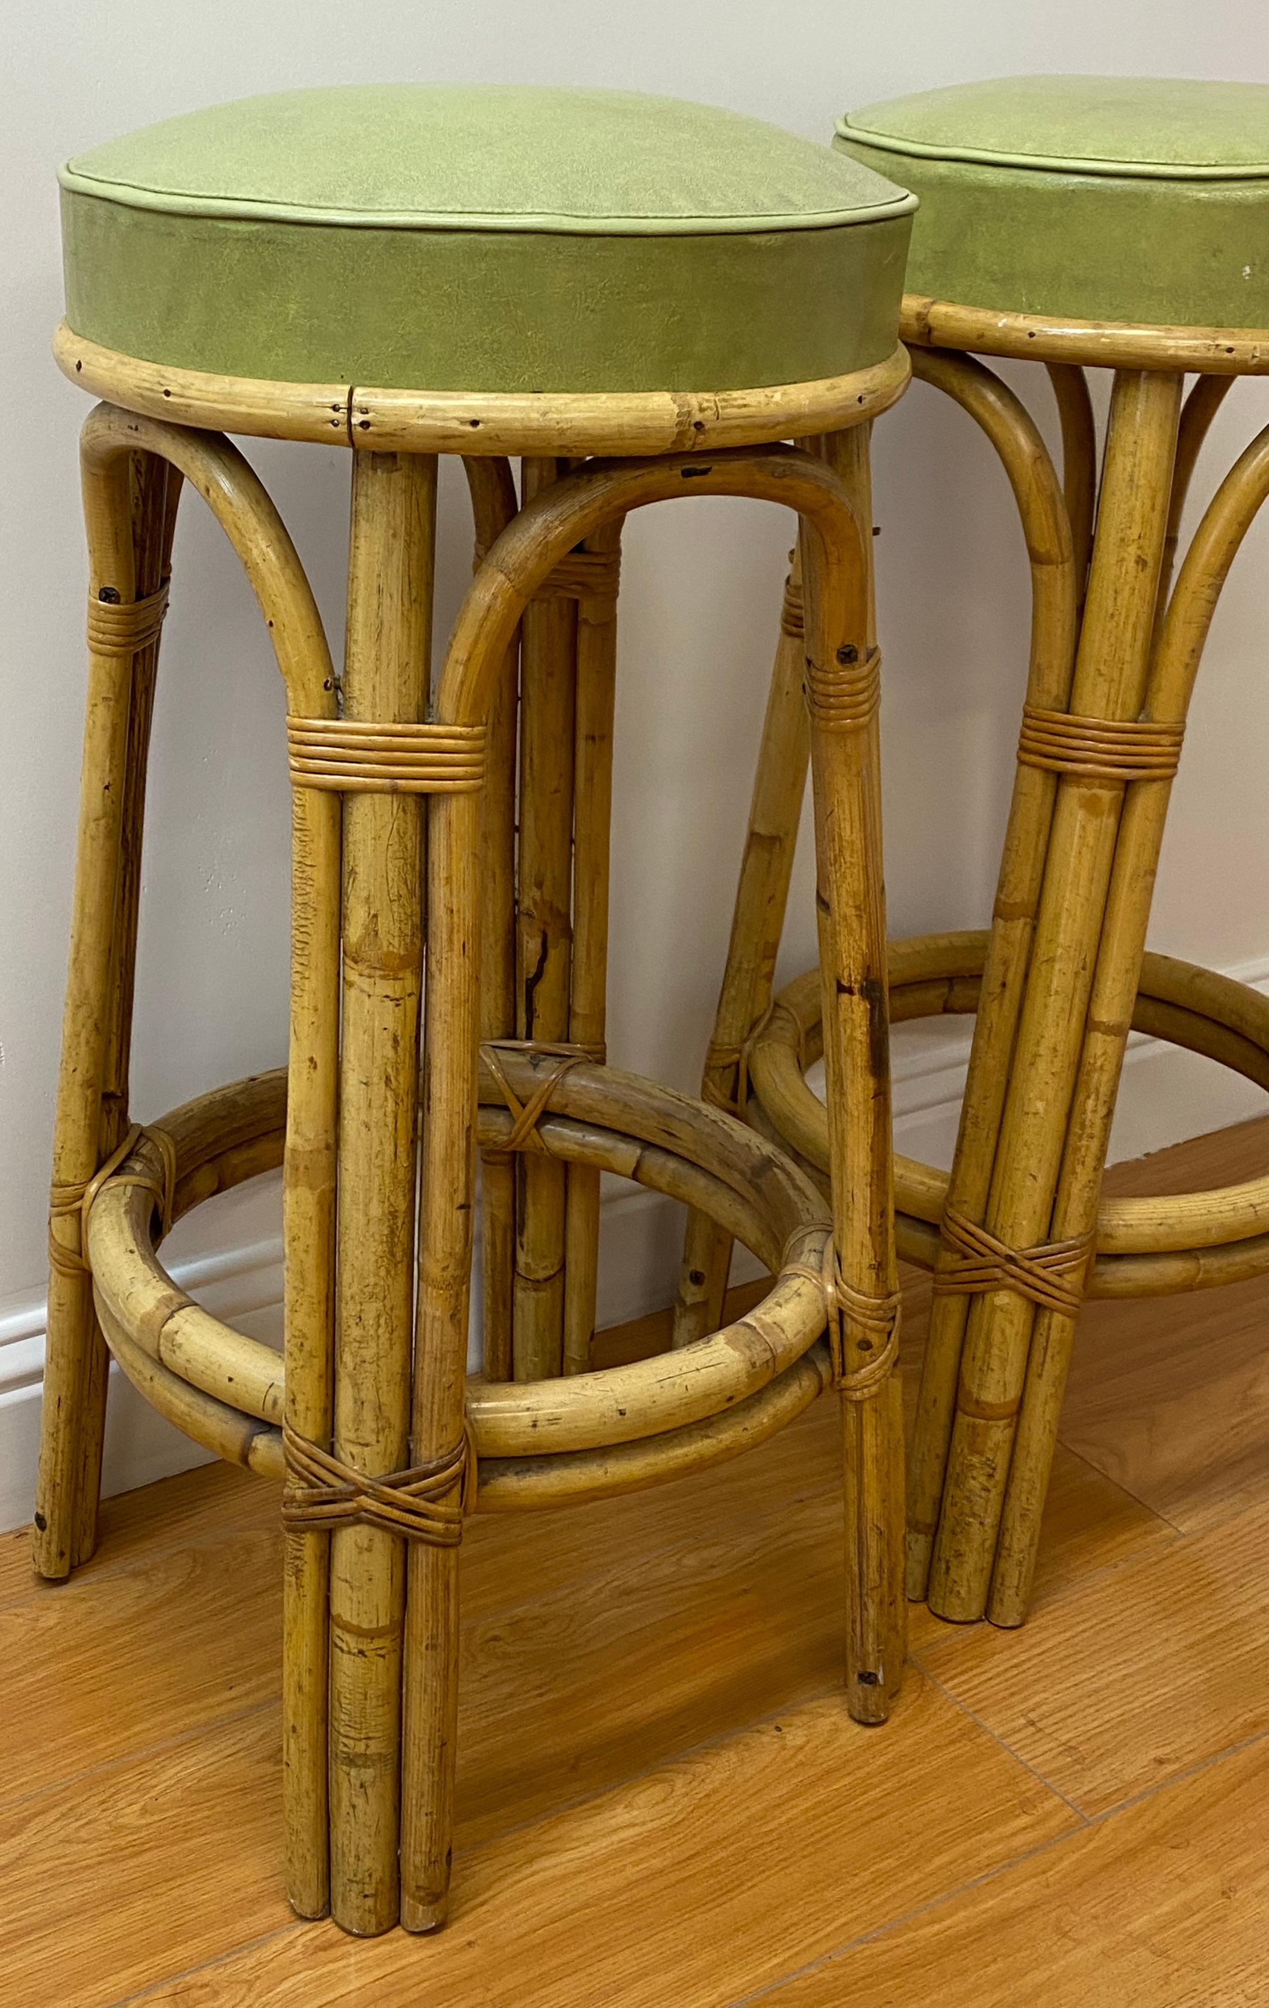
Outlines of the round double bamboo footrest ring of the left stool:
<svg viewBox="0 0 1269 2008">
<path fill-rule="evenodd" d="M 594 1062 L 496 1050 L 482 1066 L 484 1151 L 544 1149 L 703 1207 L 773 1271 L 767 1297 L 693 1347 L 550 1382 L 468 1377 L 484 1510 L 602 1498 L 737 1456 L 831 1382 L 829 1239 L 815 1187 L 757 1131 L 703 1102 Z M 506 1102 L 538 1098 L 526 1128 Z M 548 1094 L 540 1090 L 548 1084 Z M 283 1161 L 285 1074 L 217 1088 L 163 1118 L 175 1147 L 171 1219 Z M 157 1255 L 141 1133 L 88 1217 L 86 1253 L 106 1343 L 163 1416 L 217 1456 L 283 1476 L 283 1359 L 193 1303 Z"/>
</svg>

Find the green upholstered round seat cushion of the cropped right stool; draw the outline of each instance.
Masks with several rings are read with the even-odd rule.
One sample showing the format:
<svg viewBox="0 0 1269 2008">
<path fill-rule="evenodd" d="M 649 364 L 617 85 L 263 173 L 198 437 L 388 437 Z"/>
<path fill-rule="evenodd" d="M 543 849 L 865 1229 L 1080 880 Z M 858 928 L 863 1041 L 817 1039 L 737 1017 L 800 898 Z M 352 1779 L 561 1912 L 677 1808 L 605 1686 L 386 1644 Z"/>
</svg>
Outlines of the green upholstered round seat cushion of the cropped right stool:
<svg viewBox="0 0 1269 2008">
<path fill-rule="evenodd" d="M 1004 76 L 847 112 L 835 145 L 920 195 L 910 293 L 1269 327 L 1269 84 Z"/>
</svg>

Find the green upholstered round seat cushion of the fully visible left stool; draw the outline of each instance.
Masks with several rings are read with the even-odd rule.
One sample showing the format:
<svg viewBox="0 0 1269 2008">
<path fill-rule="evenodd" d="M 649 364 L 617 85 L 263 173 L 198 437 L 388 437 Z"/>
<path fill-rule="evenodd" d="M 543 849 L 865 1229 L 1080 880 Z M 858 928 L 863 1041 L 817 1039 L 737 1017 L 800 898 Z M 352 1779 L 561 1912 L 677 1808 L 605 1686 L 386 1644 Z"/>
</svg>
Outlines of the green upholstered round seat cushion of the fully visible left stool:
<svg viewBox="0 0 1269 2008">
<path fill-rule="evenodd" d="M 614 90 L 287 90 L 62 183 L 74 333 L 400 390 L 799 384 L 892 353 L 912 197 L 777 127 Z"/>
</svg>

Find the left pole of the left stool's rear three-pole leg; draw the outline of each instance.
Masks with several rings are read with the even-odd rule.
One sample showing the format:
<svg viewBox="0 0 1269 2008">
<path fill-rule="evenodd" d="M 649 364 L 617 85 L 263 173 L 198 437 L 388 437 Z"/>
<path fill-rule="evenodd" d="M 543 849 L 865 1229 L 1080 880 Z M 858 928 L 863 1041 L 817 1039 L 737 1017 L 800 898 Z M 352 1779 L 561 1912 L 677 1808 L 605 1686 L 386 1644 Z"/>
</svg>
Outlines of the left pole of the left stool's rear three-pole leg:
<svg viewBox="0 0 1269 2008">
<path fill-rule="evenodd" d="M 476 558 L 516 514 L 516 484 L 502 458 L 468 458 Z M 506 651 L 490 707 L 484 785 L 484 892 L 480 904 L 480 1036 L 516 1036 L 516 723 L 520 637 Z M 516 1161 L 488 1151 L 480 1165 L 484 1227 L 484 1373 L 512 1377 L 516 1277 Z"/>
</svg>

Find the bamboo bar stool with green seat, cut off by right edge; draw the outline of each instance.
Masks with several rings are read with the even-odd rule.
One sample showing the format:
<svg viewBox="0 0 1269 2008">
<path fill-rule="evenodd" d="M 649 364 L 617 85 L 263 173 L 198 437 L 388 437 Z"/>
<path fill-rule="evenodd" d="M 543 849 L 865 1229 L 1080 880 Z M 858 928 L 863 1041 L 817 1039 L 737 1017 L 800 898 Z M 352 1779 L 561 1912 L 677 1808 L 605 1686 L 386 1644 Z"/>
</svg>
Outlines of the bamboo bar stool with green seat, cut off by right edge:
<svg viewBox="0 0 1269 2008">
<path fill-rule="evenodd" d="M 900 1251 L 934 1269 L 936 1291 L 908 1592 L 948 1618 L 1020 1624 L 1082 1297 L 1205 1289 L 1269 1267 L 1269 1177 L 1100 1201 L 1132 1026 L 1269 1086 L 1265 1000 L 1145 952 L 1199 657 L 1269 490 L 1261 434 L 1173 586 L 1207 428 L 1237 375 L 1269 371 L 1269 86 L 1004 78 L 849 114 L 837 147 L 920 195 L 902 333 L 914 373 L 996 448 L 1032 572 L 992 928 L 900 942 L 890 956 L 896 1018 L 978 1012 L 952 1175 L 896 1161 Z M 978 355 L 1046 367 L 1060 478 Z M 1100 470 L 1088 365 L 1114 371 Z M 771 1004 L 805 777 L 791 647 L 777 657 L 705 1096 L 747 1102 L 823 1169 L 825 1110 L 803 1080 L 821 1044 L 817 998 L 801 980 Z M 723 1275 L 719 1231 L 693 1219 L 685 1339 L 707 1323 Z"/>
</svg>

